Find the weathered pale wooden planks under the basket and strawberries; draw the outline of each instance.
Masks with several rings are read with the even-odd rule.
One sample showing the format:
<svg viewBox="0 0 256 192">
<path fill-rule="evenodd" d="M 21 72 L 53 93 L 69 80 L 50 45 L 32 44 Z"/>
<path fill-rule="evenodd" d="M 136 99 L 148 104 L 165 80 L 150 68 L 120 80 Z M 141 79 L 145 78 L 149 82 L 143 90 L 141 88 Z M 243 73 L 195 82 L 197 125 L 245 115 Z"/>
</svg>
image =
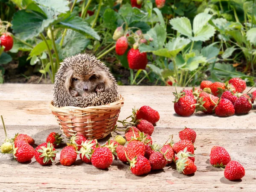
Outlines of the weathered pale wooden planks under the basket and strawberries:
<svg viewBox="0 0 256 192">
<path fill-rule="evenodd" d="M 60 132 L 49 110 L 51 89 L 51 85 L 43 84 L 0 85 L 0 114 L 4 117 L 9 137 L 17 132 L 29 134 L 39 145 L 50 132 Z M 173 109 L 173 91 L 174 87 L 120 87 L 125 106 L 119 119 L 129 116 L 134 106 L 150 105 L 160 113 L 160 121 L 152 135 L 158 144 L 163 144 L 171 134 L 174 134 L 175 142 L 178 141 L 178 132 L 184 126 L 194 128 L 197 133 L 195 164 L 198 167 L 195 175 L 181 175 L 175 166 L 166 166 L 163 171 L 137 177 L 119 160 L 114 160 L 108 170 L 99 170 L 82 163 L 79 158 L 73 166 L 62 166 L 59 153 L 52 166 L 41 166 L 34 158 L 31 163 L 20 164 L 11 154 L 0 154 L 0 191 L 256 191 L 256 111 L 229 118 L 203 113 L 180 117 Z M 2 126 L 0 133 L 2 142 Z M 209 151 L 213 145 L 224 146 L 231 159 L 244 166 L 246 174 L 241 181 L 225 179 L 221 169 L 210 165 Z"/>
</svg>

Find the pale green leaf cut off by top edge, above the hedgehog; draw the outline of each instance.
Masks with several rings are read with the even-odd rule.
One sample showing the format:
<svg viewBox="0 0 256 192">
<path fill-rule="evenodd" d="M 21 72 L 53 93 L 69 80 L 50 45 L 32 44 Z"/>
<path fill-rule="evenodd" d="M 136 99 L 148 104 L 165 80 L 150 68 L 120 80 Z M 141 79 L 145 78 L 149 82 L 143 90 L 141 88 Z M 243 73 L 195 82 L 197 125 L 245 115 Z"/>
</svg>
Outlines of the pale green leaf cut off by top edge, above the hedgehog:
<svg viewBox="0 0 256 192">
<path fill-rule="evenodd" d="M 34 0 L 41 6 L 52 9 L 55 12 L 65 13 L 70 10 L 67 0 Z"/>
</svg>

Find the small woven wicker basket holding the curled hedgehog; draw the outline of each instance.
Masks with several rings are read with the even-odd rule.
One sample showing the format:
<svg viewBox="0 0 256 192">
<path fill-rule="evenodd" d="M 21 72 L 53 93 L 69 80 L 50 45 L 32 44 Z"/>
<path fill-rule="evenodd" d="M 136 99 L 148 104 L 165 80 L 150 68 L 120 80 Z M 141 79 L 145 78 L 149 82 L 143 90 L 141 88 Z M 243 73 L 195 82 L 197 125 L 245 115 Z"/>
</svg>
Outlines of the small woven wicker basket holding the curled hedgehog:
<svg viewBox="0 0 256 192">
<path fill-rule="evenodd" d="M 124 105 L 124 98 L 108 105 L 78 108 L 57 108 L 50 103 L 52 114 L 55 115 L 61 131 L 71 137 L 82 134 L 87 139 L 102 139 L 113 130 L 118 119 L 120 109 Z"/>
</svg>

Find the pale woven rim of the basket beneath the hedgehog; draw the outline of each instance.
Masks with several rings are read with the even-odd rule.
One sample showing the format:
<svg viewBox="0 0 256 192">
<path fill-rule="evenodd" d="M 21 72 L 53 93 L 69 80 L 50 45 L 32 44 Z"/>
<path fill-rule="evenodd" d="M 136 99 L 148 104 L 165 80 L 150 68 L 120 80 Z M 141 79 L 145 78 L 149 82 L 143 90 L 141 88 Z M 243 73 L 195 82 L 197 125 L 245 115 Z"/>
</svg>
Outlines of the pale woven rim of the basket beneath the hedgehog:
<svg viewBox="0 0 256 192">
<path fill-rule="evenodd" d="M 65 107 L 55 107 L 53 105 L 53 101 L 50 102 L 50 109 L 55 112 L 62 112 L 66 113 L 68 111 L 87 111 L 89 113 L 96 112 L 97 110 L 111 110 L 111 109 L 117 109 L 121 108 L 124 105 L 124 98 L 122 95 L 120 95 L 120 99 L 116 102 L 109 103 L 108 105 L 99 105 L 99 106 L 90 106 L 86 108 L 79 108 L 79 107 L 73 107 L 73 106 L 65 106 Z"/>
</svg>

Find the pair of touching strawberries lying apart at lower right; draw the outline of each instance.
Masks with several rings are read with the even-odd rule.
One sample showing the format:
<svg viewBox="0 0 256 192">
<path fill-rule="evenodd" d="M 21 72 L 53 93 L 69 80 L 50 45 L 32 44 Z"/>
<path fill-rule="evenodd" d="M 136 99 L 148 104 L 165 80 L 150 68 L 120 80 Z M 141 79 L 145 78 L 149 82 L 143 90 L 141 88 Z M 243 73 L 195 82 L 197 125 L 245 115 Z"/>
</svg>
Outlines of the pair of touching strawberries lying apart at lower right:
<svg viewBox="0 0 256 192">
<path fill-rule="evenodd" d="M 228 180 L 239 180 L 245 175 L 244 167 L 237 161 L 231 161 L 230 154 L 224 147 L 212 147 L 210 163 L 214 167 L 225 168 L 224 177 Z"/>
</svg>

